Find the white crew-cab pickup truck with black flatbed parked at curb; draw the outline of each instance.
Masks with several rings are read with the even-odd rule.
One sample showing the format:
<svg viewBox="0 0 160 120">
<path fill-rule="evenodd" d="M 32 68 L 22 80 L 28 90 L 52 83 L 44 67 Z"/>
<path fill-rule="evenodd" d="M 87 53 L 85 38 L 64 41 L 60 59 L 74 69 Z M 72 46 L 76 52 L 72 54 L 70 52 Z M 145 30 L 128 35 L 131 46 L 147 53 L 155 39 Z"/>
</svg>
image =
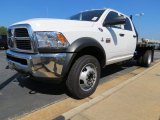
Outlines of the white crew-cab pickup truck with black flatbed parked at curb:
<svg viewBox="0 0 160 120">
<path fill-rule="evenodd" d="M 154 47 L 138 43 L 130 17 L 113 9 L 69 19 L 31 19 L 8 28 L 8 68 L 36 78 L 65 81 L 76 98 L 90 96 L 106 65 L 136 59 L 149 66 Z"/>
</svg>

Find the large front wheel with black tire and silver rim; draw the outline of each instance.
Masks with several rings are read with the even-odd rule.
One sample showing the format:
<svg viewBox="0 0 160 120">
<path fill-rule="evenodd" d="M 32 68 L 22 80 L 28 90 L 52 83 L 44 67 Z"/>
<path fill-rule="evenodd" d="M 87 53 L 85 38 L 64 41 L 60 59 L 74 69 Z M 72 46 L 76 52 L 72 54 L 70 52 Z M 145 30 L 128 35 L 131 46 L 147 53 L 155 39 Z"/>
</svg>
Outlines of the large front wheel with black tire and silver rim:
<svg viewBox="0 0 160 120">
<path fill-rule="evenodd" d="M 93 94 L 99 83 L 100 71 L 100 64 L 95 57 L 84 55 L 78 58 L 66 80 L 66 86 L 71 95 L 74 98 L 83 99 Z M 81 77 L 86 78 L 84 81 L 87 82 L 84 82 Z M 89 88 L 89 86 L 92 87 Z"/>
</svg>

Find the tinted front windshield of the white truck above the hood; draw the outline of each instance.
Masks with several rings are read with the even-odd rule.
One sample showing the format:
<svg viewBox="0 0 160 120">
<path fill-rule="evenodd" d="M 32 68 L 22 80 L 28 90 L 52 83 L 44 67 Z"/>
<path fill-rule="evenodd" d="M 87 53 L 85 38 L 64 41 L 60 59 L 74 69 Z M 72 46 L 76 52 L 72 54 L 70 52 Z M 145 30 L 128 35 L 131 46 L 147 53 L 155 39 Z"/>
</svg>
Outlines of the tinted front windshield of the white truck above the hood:
<svg viewBox="0 0 160 120">
<path fill-rule="evenodd" d="M 86 11 L 82 13 L 78 13 L 76 15 L 71 16 L 70 20 L 80 20 L 80 21 L 93 21 L 96 22 L 99 20 L 101 15 L 105 10 L 93 10 L 93 11 Z"/>
</svg>

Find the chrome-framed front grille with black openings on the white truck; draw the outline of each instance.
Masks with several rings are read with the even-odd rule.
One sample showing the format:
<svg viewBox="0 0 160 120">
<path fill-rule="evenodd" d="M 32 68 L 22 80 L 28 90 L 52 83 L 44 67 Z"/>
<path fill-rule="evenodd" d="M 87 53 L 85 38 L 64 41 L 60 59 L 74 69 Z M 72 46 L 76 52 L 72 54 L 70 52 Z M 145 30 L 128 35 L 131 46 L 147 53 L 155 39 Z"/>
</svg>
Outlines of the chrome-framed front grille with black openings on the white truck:
<svg viewBox="0 0 160 120">
<path fill-rule="evenodd" d="M 16 25 L 8 29 L 8 45 L 18 52 L 34 53 L 34 40 L 30 25 Z"/>
</svg>

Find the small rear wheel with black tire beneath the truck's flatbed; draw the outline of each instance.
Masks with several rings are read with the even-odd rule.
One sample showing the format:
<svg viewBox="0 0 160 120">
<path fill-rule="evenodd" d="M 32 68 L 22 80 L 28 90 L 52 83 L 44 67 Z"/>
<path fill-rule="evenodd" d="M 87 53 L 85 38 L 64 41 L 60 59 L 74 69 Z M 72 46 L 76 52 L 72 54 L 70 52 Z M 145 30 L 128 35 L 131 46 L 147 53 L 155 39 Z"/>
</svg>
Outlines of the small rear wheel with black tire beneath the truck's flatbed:
<svg viewBox="0 0 160 120">
<path fill-rule="evenodd" d="M 152 51 L 147 50 L 137 60 L 138 65 L 143 67 L 149 67 L 152 63 Z"/>
</svg>

